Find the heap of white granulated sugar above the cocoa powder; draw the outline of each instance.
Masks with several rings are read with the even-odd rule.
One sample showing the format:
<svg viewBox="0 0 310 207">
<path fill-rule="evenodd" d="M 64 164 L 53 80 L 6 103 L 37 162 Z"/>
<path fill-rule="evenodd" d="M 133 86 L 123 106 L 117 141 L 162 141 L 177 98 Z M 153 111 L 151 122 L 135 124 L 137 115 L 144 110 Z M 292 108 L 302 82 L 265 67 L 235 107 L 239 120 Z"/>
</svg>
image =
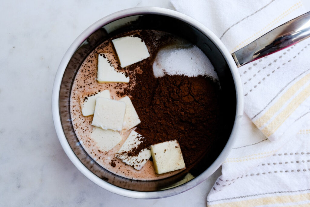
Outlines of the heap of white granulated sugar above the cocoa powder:
<svg viewBox="0 0 310 207">
<path fill-rule="evenodd" d="M 219 80 L 213 65 L 196 45 L 191 47 L 164 47 L 153 63 L 155 77 L 168 75 L 209 76 Z"/>
</svg>

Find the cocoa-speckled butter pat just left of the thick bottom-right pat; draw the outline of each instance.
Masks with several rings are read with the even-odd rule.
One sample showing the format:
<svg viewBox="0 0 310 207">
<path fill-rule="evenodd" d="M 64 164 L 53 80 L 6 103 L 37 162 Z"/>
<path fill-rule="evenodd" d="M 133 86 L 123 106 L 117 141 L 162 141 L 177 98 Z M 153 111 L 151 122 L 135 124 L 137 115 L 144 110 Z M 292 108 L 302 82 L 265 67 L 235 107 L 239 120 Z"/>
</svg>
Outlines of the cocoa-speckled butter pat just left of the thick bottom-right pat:
<svg viewBox="0 0 310 207">
<path fill-rule="evenodd" d="M 132 166 L 134 169 L 140 170 L 150 159 L 151 151 L 149 149 L 143 149 L 138 155 L 132 155 L 132 150 L 136 149 L 143 142 L 143 139 L 144 137 L 141 134 L 132 130 L 122 147 L 115 154 L 115 157 Z"/>
</svg>

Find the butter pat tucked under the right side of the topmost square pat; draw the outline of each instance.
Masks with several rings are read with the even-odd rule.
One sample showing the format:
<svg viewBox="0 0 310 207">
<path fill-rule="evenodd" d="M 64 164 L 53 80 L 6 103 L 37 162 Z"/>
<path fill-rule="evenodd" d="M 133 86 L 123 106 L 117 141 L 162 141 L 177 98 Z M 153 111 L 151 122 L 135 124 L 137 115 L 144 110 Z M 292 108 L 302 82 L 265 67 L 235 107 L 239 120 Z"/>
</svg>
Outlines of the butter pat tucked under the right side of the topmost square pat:
<svg viewBox="0 0 310 207">
<path fill-rule="evenodd" d="M 135 110 L 135 107 L 131 103 L 130 98 L 128 96 L 125 96 L 121 98 L 119 101 L 124 101 L 126 103 L 126 111 L 122 129 L 128 130 L 140 124 L 141 121 Z"/>
</svg>

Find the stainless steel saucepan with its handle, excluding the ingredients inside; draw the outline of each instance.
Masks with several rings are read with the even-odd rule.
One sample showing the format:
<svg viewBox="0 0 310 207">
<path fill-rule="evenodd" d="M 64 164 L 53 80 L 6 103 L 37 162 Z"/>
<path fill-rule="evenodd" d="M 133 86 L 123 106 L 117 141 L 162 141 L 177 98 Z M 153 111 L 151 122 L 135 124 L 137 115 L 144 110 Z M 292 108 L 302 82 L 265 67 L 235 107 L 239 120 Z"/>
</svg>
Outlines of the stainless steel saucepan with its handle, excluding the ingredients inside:
<svg viewBox="0 0 310 207">
<path fill-rule="evenodd" d="M 268 55 L 309 36 L 309 13 L 298 17 L 230 54 L 208 28 L 189 16 L 164 8 L 139 7 L 113 13 L 87 28 L 72 43 L 60 62 L 52 94 L 55 129 L 64 151 L 73 164 L 91 181 L 104 189 L 132 198 L 173 196 L 197 186 L 224 162 L 231 151 L 243 115 L 243 97 L 237 66 Z M 136 181 L 119 177 L 98 165 L 84 151 L 74 133 L 70 116 L 70 90 L 75 74 L 86 56 L 104 40 L 134 29 L 155 29 L 180 36 L 197 45 L 212 62 L 224 93 L 223 135 L 213 143 L 211 153 L 189 173 L 179 173 L 157 181 Z M 237 63 L 237 64 L 236 64 Z"/>
</svg>

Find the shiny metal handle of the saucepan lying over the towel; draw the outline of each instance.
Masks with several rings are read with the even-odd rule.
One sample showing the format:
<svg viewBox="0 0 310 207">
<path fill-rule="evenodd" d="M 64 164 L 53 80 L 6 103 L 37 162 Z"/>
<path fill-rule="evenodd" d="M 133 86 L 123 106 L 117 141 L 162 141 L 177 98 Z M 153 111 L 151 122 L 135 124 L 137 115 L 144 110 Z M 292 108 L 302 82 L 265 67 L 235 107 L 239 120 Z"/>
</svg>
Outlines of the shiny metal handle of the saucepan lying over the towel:
<svg viewBox="0 0 310 207">
<path fill-rule="evenodd" d="M 310 37 L 310 12 L 271 30 L 240 50 L 232 53 L 237 67 L 277 52 Z"/>
</svg>

